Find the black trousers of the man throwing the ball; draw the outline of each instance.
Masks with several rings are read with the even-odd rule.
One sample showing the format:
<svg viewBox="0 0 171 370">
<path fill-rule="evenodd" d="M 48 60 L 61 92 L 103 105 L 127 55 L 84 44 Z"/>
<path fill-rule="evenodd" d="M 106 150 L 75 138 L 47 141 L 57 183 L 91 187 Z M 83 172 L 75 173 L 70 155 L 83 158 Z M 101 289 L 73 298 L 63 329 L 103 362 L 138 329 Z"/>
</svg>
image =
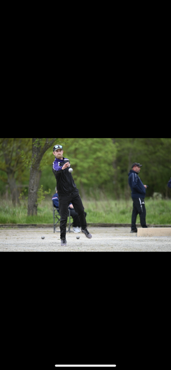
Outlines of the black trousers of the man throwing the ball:
<svg viewBox="0 0 171 370">
<path fill-rule="evenodd" d="M 61 239 L 66 238 L 66 227 L 68 220 L 68 206 L 69 203 L 73 204 L 75 212 L 78 214 L 80 225 L 84 230 L 87 227 L 84 206 L 80 198 L 78 190 L 74 190 L 73 193 L 68 195 L 59 195 L 59 211 L 60 211 L 60 230 Z"/>
</svg>

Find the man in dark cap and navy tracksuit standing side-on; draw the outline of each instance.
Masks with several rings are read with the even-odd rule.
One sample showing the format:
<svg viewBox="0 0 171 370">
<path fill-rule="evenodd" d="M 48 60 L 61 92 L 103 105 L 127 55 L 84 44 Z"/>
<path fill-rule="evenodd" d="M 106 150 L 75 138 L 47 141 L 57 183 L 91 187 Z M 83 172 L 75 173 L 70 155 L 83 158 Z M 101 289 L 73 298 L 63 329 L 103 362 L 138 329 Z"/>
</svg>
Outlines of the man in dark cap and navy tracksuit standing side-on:
<svg viewBox="0 0 171 370">
<path fill-rule="evenodd" d="M 140 224 L 142 227 L 147 227 L 145 216 L 146 216 L 146 209 L 145 209 L 145 189 L 147 185 L 143 185 L 142 181 L 140 180 L 138 173 L 142 164 L 137 162 L 133 163 L 132 170 L 130 170 L 128 176 L 128 183 L 131 187 L 131 196 L 133 199 L 133 212 L 132 212 L 132 222 L 131 222 L 131 232 L 137 232 L 136 220 L 137 215 L 139 214 Z"/>
</svg>

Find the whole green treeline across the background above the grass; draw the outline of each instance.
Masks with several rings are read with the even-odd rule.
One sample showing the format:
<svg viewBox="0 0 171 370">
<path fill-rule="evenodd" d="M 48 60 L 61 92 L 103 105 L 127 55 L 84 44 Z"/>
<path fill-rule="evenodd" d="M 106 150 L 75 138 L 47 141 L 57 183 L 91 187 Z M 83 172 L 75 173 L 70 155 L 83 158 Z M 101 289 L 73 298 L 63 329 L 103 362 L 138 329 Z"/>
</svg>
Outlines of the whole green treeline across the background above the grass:
<svg viewBox="0 0 171 370">
<path fill-rule="evenodd" d="M 52 143 L 49 148 L 48 143 Z M 82 197 L 98 199 L 105 194 L 113 199 L 127 199 L 131 196 L 128 172 L 136 161 L 143 165 L 139 177 L 149 186 L 146 195 L 159 192 L 164 198 L 171 198 L 167 186 L 171 178 L 171 139 L 168 138 L 0 139 L 1 197 L 11 197 L 13 203 L 19 204 L 20 194 L 28 195 L 37 153 L 40 155 L 35 167 L 37 189 L 48 192 L 49 197 L 54 194 L 52 150 L 55 144 L 64 146 L 64 156 L 70 160 L 72 176 Z"/>
</svg>

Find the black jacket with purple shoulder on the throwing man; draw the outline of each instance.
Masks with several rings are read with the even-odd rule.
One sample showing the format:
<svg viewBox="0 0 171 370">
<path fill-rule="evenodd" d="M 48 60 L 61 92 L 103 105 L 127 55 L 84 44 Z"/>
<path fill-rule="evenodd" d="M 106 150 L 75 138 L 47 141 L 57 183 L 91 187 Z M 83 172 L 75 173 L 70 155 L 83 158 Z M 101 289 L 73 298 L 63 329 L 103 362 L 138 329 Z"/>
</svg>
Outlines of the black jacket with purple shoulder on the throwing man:
<svg viewBox="0 0 171 370">
<path fill-rule="evenodd" d="M 73 177 L 70 172 L 68 172 L 69 167 L 62 170 L 62 166 L 69 162 L 68 158 L 57 159 L 55 158 L 52 164 L 52 171 L 56 178 L 56 187 L 58 190 L 58 195 L 68 195 L 73 193 L 74 190 L 78 190 L 73 181 Z"/>
</svg>

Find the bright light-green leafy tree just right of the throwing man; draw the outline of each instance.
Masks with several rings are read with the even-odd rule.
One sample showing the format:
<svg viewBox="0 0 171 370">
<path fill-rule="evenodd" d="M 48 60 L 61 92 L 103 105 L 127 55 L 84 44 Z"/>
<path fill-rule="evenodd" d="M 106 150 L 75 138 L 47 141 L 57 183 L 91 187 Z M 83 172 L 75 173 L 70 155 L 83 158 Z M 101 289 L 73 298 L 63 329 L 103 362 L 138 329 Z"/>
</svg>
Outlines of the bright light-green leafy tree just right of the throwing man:
<svg viewBox="0 0 171 370">
<path fill-rule="evenodd" d="M 116 147 L 112 139 L 69 139 L 64 156 L 70 161 L 78 188 L 89 192 L 91 188 L 108 187 L 113 181 Z"/>
</svg>

